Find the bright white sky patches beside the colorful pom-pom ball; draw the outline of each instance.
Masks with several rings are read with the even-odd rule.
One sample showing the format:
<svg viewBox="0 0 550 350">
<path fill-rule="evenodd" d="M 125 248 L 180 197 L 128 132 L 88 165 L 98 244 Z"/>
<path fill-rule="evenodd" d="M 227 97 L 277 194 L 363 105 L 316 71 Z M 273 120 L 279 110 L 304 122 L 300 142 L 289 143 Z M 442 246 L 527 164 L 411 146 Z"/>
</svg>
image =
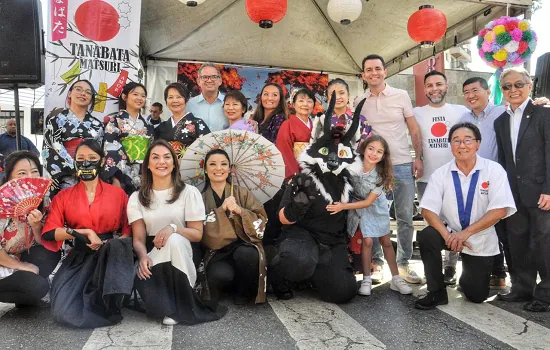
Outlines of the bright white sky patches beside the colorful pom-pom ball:
<svg viewBox="0 0 550 350">
<path fill-rule="evenodd" d="M 537 58 L 546 52 L 550 52 L 550 0 L 542 1 L 542 8 L 537 10 L 531 16 L 531 25 L 537 33 L 537 48 L 531 56 L 531 74 L 535 74 L 537 67 Z M 472 63 L 468 65 L 473 71 L 494 72 L 494 68 L 489 67 L 477 53 L 476 38 L 471 41 Z"/>
</svg>

